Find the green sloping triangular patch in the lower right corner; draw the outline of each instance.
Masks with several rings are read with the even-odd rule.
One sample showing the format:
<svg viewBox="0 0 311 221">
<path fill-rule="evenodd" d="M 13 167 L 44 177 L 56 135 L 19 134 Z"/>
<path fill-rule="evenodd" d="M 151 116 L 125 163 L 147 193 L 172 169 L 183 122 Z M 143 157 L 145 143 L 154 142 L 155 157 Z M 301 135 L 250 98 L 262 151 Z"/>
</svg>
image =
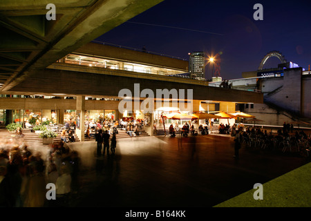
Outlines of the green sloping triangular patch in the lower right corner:
<svg viewBox="0 0 311 221">
<path fill-rule="evenodd" d="M 256 190 L 214 207 L 311 207 L 311 163 L 263 184 L 263 200 L 254 200 Z"/>
</svg>

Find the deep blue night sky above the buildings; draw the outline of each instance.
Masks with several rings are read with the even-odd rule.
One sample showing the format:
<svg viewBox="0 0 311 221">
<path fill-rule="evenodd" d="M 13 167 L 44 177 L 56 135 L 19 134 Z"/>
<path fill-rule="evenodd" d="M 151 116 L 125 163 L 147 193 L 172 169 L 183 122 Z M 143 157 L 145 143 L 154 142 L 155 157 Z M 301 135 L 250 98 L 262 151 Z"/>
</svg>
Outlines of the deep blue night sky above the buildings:
<svg viewBox="0 0 311 221">
<path fill-rule="evenodd" d="M 263 5 L 263 20 L 253 9 Z M 310 1 L 164 0 L 95 39 L 189 60 L 189 52 L 220 53 L 220 76 L 241 78 L 257 70 L 261 59 L 278 50 L 287 61 L 308 70 L 311 64 Z M 269 59 L 264 68 L 277 67 Z M 211 78 L 207 64 L 206 77 Z"/>
</svg>

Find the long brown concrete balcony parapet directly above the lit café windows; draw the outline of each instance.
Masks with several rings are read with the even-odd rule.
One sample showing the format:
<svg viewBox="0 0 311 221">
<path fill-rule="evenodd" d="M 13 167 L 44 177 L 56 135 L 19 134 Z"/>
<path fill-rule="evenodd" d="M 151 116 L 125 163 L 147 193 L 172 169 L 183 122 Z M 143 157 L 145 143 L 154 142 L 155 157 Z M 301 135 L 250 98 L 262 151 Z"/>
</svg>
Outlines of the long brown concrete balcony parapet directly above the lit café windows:
<svg viewBox="0 0 311 221">
<path fill-rule="evenodd" d="M 93 97 L 118 97 L 123 88 L 134 91 L 134 84 L 140 84 L 140 91 L 148 88 L 156 89 L 192 89 L 193 99 L 213 100 L 217 102 L 262 103 L 263 94 L 245 90 L 216 88 L 208 86 L 205 81 L 183 79 L 135 73 L 124 70 L 109 70 L 108 68 L 84 67 L 75 64 L 54 63 L 48 68 L 37 70 L 23 83 L 13 87 L 8 93 L 25 95 L 61 93 L 65 95 L 90 95 Z"/>
</svg>

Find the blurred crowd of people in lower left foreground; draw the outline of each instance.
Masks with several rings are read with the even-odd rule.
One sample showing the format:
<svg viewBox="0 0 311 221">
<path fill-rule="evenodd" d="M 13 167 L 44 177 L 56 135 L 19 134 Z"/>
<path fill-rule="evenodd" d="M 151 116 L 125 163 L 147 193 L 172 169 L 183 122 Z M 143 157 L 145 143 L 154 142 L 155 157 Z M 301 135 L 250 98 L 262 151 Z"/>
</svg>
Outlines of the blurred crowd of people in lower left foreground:
<svg viewBox="0 0 311 221">
<path fill-rule="evenodd" d="M 50 147 L 47 155 L 26 144 L 0 148 L 0 207 L 68 206 L 77 190 L 79 156 L 64 142 Z M 56 200 L 46 197 L 47 184 L 55 184 Z"/>
</svg>

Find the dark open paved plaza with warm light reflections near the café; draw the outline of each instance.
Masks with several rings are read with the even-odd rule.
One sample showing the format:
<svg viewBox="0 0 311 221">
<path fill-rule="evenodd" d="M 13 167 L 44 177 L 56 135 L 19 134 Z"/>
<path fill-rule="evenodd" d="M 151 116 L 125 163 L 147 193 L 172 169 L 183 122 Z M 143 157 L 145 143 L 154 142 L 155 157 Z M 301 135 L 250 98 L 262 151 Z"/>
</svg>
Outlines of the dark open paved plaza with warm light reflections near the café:
<svg viewBox="0 0 311 221">
<path fill-rule="evenodd" d="M 80 189 L 70 206 L 211 207 L 308 162 L 246 147 L 237 160 L 228 135 L 124 138 L 115 155 L 104 157 L 96 157 L 95 142 L 68 145 L 81 158 Z"/>
</svg>

